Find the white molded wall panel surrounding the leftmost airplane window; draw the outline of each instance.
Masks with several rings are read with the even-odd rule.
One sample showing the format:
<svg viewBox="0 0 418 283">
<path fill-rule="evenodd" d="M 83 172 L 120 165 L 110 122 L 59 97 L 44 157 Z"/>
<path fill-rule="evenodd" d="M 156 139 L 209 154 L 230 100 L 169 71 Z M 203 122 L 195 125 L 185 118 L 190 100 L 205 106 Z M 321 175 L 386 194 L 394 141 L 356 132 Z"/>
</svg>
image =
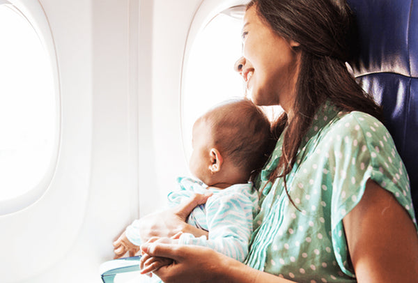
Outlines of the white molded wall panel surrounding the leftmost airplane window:
<svg viewBox="0 0 418 283">
<path fill-rule="evenodd" d="M 91 2 L 40 3 L 55 36 L 60 71 L 59 158 L 40 199 L 22 211 L 0 216 L 1 282 L 35 282 L 33 276 L 68 253 L 82 227 L 90 185 Z M 72 115 L 75 109 L 78 114 Z"/>
</svg>

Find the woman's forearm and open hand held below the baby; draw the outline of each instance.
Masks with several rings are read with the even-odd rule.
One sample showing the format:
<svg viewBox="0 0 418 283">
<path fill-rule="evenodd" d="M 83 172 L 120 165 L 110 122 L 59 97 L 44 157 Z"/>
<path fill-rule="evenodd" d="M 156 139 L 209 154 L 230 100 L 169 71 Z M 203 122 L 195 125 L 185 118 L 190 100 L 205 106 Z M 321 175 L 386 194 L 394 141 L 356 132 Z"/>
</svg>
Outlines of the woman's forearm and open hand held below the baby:
<svg viewBox="0 0 418 283">
<path fill-rule="evenodd" d="M 141 250 L 153 257 L 173 259 L 169 266 L 155 271 L 166 283 L 236 282 L 291 283 L 292 281 L 264 273 L 226 257 L 208 247 L 193 245 L 147 244 Z"/>
</svg>

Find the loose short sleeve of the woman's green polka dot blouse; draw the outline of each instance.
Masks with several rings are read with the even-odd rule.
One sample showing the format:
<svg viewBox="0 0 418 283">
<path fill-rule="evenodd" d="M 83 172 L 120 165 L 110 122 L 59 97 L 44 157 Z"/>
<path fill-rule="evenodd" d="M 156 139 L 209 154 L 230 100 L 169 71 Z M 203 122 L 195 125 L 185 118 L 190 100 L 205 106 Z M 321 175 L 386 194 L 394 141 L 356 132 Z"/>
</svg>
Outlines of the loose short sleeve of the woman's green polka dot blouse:
<svg viewBox="0 0 418 283">
<path fill-rule="evenodd" d="M 410 183 L 405 166 L 399 157 L 392 137 L 376 118 L 352 112 L 334 127 L 332 156 L 331 224 L 332 245 L 336 260 L 344 273 L 354 276 L 348 260 L 348 247 L 343 229 L 343 217 L 359 203 L 369 179 L 394 194 L 417 227 Z"/>
</svg>

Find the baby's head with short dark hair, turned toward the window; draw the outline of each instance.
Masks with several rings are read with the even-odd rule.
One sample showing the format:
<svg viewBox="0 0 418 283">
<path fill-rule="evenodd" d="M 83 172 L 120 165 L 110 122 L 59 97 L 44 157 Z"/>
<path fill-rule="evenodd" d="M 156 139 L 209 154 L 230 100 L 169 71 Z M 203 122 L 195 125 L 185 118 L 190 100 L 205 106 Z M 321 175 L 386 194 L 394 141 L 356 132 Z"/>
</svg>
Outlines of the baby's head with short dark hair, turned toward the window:
<svg viewBox="0 0 418 283">
<path fill-rule="evenodd" d="M 190 170 L 203 183 L 246 183 L 270 155 L 270 122 L 250 100 L 228 100 L 197 119 L 192 144 Z"/>
</svg>

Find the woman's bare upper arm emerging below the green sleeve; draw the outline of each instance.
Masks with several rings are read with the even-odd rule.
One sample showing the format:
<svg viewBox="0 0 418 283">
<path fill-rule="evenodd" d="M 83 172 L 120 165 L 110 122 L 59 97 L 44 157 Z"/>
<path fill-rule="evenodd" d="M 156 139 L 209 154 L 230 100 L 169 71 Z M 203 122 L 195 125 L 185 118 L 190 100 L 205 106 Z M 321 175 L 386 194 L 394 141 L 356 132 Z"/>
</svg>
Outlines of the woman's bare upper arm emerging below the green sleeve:
<svg viewBox="0 0 418 283">
<path fill-rule="evenodd" d="M 343 225 L 359 283 L 417 282 L 417 231 L 390 192 L 369 180 Z"/>
</svg>

